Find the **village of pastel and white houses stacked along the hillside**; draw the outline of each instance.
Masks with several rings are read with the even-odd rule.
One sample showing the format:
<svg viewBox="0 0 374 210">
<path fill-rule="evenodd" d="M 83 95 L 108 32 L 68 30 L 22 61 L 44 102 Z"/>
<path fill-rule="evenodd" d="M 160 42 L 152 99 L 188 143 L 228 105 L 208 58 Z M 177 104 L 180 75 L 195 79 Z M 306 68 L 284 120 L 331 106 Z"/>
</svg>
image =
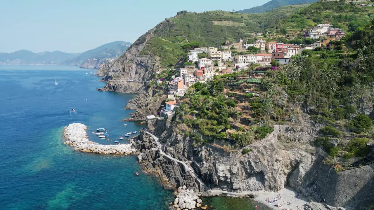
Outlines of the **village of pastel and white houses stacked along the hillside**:
<svg viewBox="0 0 374 210">
<path fill-rule="evenodd" d="M 184 68 L 172 70 L 176 74 L 170 76 L 170 71 L 166 69 L 156 72 L 157 85 L 167 88 L 169 92 L 168 101 L 160 112 L 170 114 L 175 111 L 178 106 L 177 99 L 186 93 L 188 87 L 197 82 L 205 83 L 217 75 L 254 71 L 255 67 L 276 69 L 279 65 L 289 64 L 292 58 L 301 55 L 304 50 L 329 46 L 330 41 L 338 41 L 345 35 L 345 31 L 334 28 L 331 24 L 318 24 L 303 32 L 304 38 L 316 41 L 310 45 L 285 44 L 266 41 L 261 38 L 263 33 L 257 33 L 258 38 L 255 38 L 253 43 L 248 43 L 248 38 L 240 38 L 234 43 L 226 40 L 219 46 L 191 49 Z M 258 53 L 249 53 L 249 50 Z M 264 72 L 257 72 L 254 77 L 263 78 Z"/>
</svg>

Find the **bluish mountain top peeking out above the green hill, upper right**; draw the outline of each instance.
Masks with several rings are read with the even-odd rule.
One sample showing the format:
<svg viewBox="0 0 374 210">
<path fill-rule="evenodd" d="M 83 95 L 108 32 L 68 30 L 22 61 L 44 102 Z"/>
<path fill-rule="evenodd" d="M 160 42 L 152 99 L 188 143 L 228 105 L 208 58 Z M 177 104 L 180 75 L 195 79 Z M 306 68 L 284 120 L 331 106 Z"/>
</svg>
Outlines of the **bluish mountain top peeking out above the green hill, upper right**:
<svg viewBox="0 0 374 210">
<path fill-rule="evenodd" d="M 287 5 L 296 5 L 296 4 L 310 4 L 317 2 L 318 0 L 271 0 L 261 6 L 252 7 L 250 9 L 243 9 L 237 11 L 238 13 L 263 13 L 270 11 L 277 7 L 283 7 Z"/>
</svg>

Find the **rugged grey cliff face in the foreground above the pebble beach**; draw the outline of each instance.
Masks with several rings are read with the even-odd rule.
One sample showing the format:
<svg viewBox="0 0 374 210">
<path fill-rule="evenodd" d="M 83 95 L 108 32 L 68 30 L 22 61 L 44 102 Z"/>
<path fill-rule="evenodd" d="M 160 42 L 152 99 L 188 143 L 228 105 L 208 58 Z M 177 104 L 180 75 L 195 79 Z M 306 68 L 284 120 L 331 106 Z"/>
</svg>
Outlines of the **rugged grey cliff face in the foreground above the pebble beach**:
<svg viewBox="0 0 374 210">
<path fill-rule="evenodd" d="M 318 150 L 309 146 L 314 138 L 306 134 L 313 135 L 314 129 L 288 135 L 283 133 L 287 130 L 285 126 L 276 126 L 262 143 L 254 144 L 247 154 L 242 154 L 209 144 L 195 145 L 193 139 L 178 129 L 183 125 L 169 125 L 167 117 L 148 121 L 150 132 L 162 133 L 159 139 L 162 151 L 184 161 L 193 173 L 162 155 L 156 143 L 149 143 L 154 142 L 151 136 L 145 134 L 135 141 L 142 151 L 141 163 L 148 171 L 159 174 L 166 185 L 186 185 L 205 195 L 213 194 L 210 189 L 278 191 L 288 185 L 314 201 L 325 199 L 331 206 L 362 207 L 372 201 L 367 192 L 374 190 L 374 164 L 336 173 L 323 163 Z"/>
</svg>

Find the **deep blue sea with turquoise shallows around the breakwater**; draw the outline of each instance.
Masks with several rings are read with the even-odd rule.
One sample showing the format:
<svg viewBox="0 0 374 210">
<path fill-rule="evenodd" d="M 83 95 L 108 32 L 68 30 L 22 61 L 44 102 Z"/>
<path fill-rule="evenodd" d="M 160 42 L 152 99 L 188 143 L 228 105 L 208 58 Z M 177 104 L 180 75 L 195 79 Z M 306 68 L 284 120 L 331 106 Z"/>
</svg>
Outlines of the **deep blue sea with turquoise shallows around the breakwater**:
<svg viewBox="0 0 374 210">
<path fill-rule="evenodd" d="M 86 124 L 92 141 L 108 144 L 143 127 L 121 121 L 135 95 L 97 91 L 105 83 L 90 72 L 0 66 L 0 209 L 167 209 L 172 192 L 141 172 L 136 156 L 77 152 L 63 144 L 62 129 L 70 123 Z M 108 130 L 109 141 L 91 134 L 99 127 Z"/>
</svg>

